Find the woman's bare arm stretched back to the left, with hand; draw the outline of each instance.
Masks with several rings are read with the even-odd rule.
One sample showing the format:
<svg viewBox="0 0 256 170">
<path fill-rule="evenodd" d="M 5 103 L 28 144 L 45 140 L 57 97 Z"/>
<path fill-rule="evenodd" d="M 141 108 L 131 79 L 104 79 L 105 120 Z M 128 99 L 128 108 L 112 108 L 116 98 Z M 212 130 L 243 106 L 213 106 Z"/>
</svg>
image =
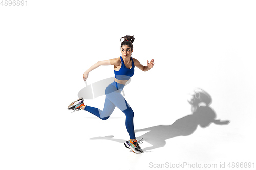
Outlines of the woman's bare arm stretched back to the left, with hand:
<svg viewBox="0 0 256 170">
<path fill-rule="evenodd" d="M 91 72 L 95 68 L 98 68 L 101 65 L 120 65 L 120 64 L 121 64 L 121 61 L 119 61 L 119 58 L 110 59 L 110 60 L 104 60 L 104 61 L 98 61 L 97 63 L 92 65 L 88 70 L 86 70 L 86 72 L 84 72 L 83 80 L 86 81 L 89 72 Z"/>
</svg>

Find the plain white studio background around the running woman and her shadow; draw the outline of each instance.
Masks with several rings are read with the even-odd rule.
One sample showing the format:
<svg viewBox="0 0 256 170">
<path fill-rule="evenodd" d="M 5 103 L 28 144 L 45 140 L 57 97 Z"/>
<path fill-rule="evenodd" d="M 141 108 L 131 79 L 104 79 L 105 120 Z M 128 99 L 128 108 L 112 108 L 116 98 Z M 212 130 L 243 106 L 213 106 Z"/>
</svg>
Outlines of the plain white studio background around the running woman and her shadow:
<svg viewBox="0 0 256 170">
<path fill-rule="evenodd" d="M 152 169 L 150 162 L 226 162 L 228 168 L 228 162 L 256 162 L 255 7 L 255 1 L 1 5 L 1 169 Z M 131 34 L 133 57 L 142 65 L 155 60 L 148 72 L 136 68 L 124 89 L 135 129 L 171 125 L 191 114 L 187 99 L 197 87 L 211 95 L 217 119 L 230 123 L 198 127 L 139 155 L 114 140 L 90 140 L 129 138 L 118 109 L 103 122 L 67 107 L 85 86 L 83 72 L 119 57 L 120 38 Z M 112 66 L 101 66 L 87 84 L 113 76 Z M 102 109 L 104 96 L 86 102 Z"/>
</svg>

